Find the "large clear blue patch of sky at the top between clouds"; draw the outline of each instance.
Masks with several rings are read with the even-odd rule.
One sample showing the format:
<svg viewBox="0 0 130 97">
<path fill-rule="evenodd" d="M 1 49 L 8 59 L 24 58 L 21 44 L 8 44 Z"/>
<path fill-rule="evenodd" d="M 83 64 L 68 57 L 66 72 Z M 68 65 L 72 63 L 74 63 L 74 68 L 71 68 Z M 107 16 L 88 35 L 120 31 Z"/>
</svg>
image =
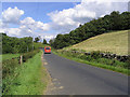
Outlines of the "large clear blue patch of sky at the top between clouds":
<svg viewBox="0 0 130 97">
<path fill-rule="evenodd" d="M 5 2 L 2 3 L 2 11 L 8 8 L 17 6 L 17 9 L 24 10 L 25 12 L 21 19 L 32 17 L 35 20 L 49 23 L 51 19 L 47 15 L 48 13 L 55 10 L 62 11 L 64 9 L 74 8 L 74 2 Z"/>
</svg>

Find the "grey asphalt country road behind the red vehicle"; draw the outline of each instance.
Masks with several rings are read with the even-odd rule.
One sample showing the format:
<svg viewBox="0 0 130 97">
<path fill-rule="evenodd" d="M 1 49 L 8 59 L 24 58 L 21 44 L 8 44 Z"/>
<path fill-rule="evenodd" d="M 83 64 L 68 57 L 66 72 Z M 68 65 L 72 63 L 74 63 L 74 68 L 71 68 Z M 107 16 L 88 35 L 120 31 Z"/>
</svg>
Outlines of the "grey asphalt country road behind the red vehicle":
<svg viewBox="0 0 130 97">
<path fill-rule="evenodd" d="M 127 95 L 128 77 L 110 70 L 44 54 L 52 83 L 47 95 Z"/>
</svg>

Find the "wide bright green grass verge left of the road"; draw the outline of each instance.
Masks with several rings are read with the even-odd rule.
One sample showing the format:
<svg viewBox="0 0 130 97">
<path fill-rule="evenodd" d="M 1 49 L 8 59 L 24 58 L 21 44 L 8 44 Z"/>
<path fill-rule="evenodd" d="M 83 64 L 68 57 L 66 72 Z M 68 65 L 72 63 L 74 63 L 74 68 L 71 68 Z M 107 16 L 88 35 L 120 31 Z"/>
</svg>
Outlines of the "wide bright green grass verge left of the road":
<svg viewBox="0 0 130 97">
<path fill-rule="evenodd" d="M 13 81 L 6 95 L 42 95 L 47 86 L 47 71 L 42 67 L 42 52 L 24 63 L 15 72 L 18 77 Z M 44 81 L 42 81 L 44 79 Z"/>
</svg>

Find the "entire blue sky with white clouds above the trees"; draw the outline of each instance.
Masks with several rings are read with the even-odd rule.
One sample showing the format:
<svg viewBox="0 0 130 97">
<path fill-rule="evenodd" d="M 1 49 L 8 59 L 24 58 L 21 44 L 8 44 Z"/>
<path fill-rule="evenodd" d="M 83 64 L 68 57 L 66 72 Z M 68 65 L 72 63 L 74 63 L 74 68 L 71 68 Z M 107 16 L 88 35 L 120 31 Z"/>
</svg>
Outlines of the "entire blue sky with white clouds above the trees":
<svg viewBox="0 0 130 97">
<path fill-rule="evenodd" d="M 49 41 L 113 11 L 128 11 L 128 1 L 2 2 L 0 32 L 17 38 L 40 36 Z"/>
</svg>

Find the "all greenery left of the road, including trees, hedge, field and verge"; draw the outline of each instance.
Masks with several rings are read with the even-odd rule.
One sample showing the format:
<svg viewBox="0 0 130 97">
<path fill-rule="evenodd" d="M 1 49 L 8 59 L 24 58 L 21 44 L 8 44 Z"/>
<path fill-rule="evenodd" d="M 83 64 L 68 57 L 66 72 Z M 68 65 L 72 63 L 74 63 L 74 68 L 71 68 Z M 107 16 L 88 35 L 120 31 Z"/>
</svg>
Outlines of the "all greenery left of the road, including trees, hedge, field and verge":
<svg viewBox="0 0 130 97">
<path fill-rule="evenodd" d="M 2 95 L 42 95 L 48 83 L 40 38 L 2 34 Z M 44 40 L 46 41 L 46 40 Z M 22 58 L 20 57 L 22 55 Z"/>
</svg>

